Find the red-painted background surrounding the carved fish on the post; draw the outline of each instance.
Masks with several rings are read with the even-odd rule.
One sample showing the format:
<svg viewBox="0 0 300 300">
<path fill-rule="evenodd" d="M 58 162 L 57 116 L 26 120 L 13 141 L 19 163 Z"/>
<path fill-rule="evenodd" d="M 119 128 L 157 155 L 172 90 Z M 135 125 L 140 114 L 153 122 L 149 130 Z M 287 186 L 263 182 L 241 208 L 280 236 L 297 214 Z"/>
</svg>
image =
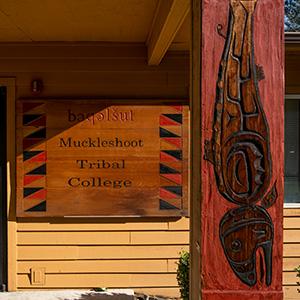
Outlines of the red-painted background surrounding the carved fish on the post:
<svg viewBox="0 0 300 300">
<path fill-rule="evenodd" d="M 239 0 L 231 0 L 238 3 Z M 253 1 L 244 1 L 246 3 Z M 230 0 L 204 0 L 202 7 L 202 140 L 211 140 L 214 120 L 216 85 L 219 65 L 227 35 Z M 219 224 L 230 209 L 237 208 L 219 192 L 214 167 L 202 163 L 202 296 L 204 300 L 279 300 L 282 294 L 283 249 L 283 142 L 284 142 L 284 56 L 283 56 L 283 1 L 257 0 L 254 12 L 255 63 L 263 67 L 265 79 L 259 81 L 261 104 L 269 125 L 272 175 L 270 188 L 276 182 L 278 197 L 267 209 L 274 224 L 272 280 L 268 286 L 261 274 L 257 259 L 257 283 L 249 286 L 233 272 L 219 237 Z M 269 190 L 270 190 L 269 188 Z M 261 199 L 263 200 L 263 199 Z M 261 205 L 261 204 L 259 204 Z M 259 251 L 256 257 L 259 257 Z M 265 270 L 264 270 L 265 271 Z M 263 276 L 264 275 L 264 276 Z M 263 278 L 261 278 L 261 276 Z"/>
</svg>

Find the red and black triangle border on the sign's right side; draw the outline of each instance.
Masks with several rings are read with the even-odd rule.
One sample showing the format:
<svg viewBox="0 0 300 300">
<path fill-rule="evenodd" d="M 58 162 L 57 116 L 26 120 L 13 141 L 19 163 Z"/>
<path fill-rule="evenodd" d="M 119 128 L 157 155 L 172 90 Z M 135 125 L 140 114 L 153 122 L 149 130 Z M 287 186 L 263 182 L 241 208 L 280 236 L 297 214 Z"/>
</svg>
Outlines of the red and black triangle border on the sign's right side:
<svg viewBox="0 0 300 300">
<path fill-rule="evenodd" d="M 182 106 L 171 106 L 174 113 L 161 114 L 160 210 L 182 208 Z"/>
</svg>

